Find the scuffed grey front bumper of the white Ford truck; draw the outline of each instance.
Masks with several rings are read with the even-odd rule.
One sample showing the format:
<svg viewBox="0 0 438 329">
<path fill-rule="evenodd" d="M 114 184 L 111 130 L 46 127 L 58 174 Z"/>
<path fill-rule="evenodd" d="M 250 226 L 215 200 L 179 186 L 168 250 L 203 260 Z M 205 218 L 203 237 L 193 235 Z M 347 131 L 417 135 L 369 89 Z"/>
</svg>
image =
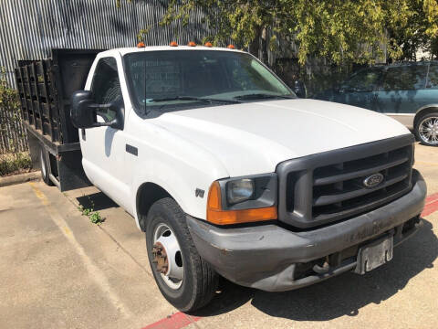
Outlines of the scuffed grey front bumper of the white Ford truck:
<svg viewBox="0 0 438 329">
<path fill-rule="evenodd" d="M 267 292 L 297 289 L 356 268 L 356 259 L 339 259 L 328 271 L 297 275 L 302 264 L 313 264 L 328 256 L 351 252 L 354 246 L 394 236 L 394 245 L 412 236 L 421 227 L 416 220 L 424 207 L 426 184 L 412 172 L 411 192 L 390 204 L 342 222 L 308 231 L 293 232 L 275 224 L 250 228 L 217 228 L 187 217 L 194 244 L 201 257 L 230 281 Z M 405 222 L 412 219 L 410 225 Z M 344 252 L 345 254 L 345 252 Z M 351 255 L 350 255 L 351 256 Z"/>
</svg>

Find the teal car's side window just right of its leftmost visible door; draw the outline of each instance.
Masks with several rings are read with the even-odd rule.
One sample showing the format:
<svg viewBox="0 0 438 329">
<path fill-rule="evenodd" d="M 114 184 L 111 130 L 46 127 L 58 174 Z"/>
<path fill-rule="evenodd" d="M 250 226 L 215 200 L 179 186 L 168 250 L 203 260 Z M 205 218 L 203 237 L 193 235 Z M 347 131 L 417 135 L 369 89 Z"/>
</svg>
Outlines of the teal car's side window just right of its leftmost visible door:
<svg viewBox="0 0 438 329">
<path fill-rule="evenodd" d="M 383 78 L 382 90 L 419 90 L 426 82 L 427 65 L 390 67 Z"/>
</svg>

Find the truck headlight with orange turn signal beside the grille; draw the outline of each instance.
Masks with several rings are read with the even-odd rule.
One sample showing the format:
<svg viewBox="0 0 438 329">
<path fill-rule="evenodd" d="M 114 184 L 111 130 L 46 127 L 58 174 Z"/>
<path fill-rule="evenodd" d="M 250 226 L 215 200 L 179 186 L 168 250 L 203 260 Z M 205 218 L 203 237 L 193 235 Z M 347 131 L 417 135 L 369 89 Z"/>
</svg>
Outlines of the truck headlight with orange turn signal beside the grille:
<svg viewBox="0 0 438 329">
<path fill-rule="evenodd" d="M 216 225 L 276 219 L 276 174 L 215 181 L 208 192 L 207 220 Z"/>
</svg>

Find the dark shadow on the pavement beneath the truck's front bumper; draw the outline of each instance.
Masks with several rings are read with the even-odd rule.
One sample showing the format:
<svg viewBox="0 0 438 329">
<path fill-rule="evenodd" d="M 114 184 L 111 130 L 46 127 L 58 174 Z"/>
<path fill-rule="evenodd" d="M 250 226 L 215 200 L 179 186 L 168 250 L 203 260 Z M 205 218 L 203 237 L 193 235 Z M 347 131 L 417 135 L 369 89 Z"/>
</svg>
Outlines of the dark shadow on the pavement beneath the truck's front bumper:
<svg viewBox="0 0 438 329">
<path fill-rule="evenodd" d="M 349 272 L 291 292 L 262 292 L 227 282 L 223 292 L 196 315 L 227 313 L 251 299 L 252 305 L 266 314 L 296 321 L 357 315 L 361 307 L 387 300 L 414 276 L 433 268 L 433 260 L 438 256 L 438 239 L 432 224 L 423 221 L 423 228 L 412 239 L 394 249 L 391 262 L 366 275 Z"/>
</svg>

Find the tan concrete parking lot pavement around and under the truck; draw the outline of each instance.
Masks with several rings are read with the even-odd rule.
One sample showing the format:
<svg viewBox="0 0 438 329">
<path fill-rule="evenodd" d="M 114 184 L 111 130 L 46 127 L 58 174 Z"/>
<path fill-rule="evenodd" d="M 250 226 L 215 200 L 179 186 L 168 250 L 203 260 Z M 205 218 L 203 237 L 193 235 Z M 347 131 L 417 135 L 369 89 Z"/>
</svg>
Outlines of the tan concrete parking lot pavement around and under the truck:
<svg viewBox="0 0 438 329">
<path fill-rule="evenodd" d="M 418 145 L 428 184 L 424 226 L 388 264 L 294 292 L 224 281 L 214 301 L 179 313 L 153 281 L 144 236 L 94 187 L 0 188 L 0 328 L 436 328 L 438 149 Z M 100 226 L 78 205 L 105 218 Z"/>
</svg>

